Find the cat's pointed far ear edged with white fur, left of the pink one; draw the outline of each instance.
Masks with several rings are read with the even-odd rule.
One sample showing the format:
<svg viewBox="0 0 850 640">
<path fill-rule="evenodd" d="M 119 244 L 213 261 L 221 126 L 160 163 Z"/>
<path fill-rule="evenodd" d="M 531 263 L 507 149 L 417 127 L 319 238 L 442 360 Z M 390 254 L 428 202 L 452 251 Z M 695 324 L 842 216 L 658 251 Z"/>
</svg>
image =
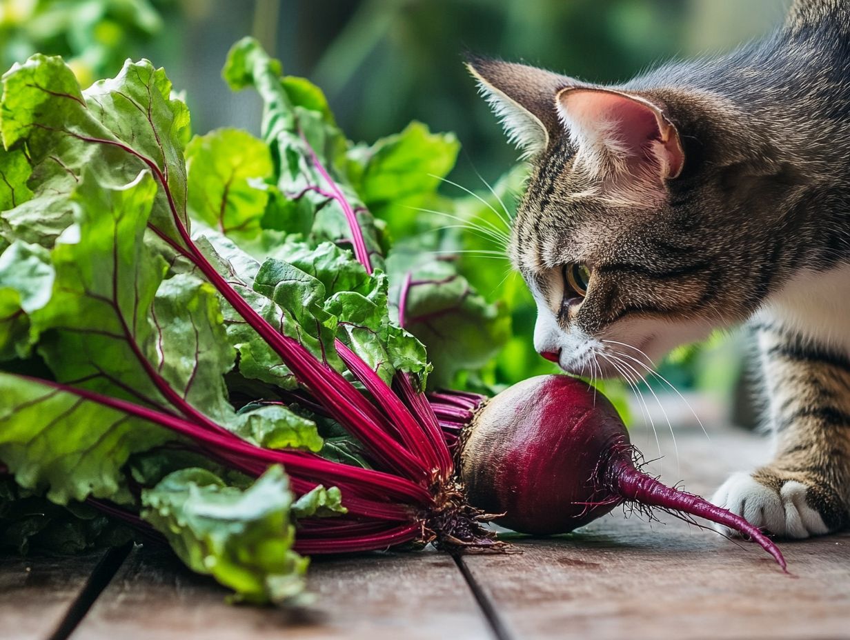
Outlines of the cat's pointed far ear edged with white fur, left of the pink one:
<svg viewBox="0 0 850 640">
<path fill-rule="evenodd" d="M 467 55 L 467 69 L 505 127 L 507 138 L 534 156 L 549 140 L 564 132 L 558 121 L 555 97 L 564 87 L 578 84 L 529 65 Z"/>
</svg>

